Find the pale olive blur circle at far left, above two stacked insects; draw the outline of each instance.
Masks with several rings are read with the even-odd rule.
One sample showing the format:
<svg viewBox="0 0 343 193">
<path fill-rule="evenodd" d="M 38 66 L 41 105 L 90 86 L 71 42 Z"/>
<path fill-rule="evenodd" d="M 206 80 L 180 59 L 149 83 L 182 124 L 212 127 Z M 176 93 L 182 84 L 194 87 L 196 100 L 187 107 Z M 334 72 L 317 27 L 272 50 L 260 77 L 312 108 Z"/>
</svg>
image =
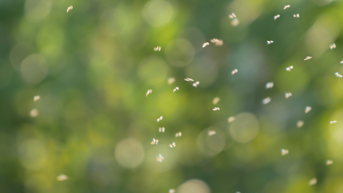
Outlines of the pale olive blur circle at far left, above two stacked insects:
<svg viewBox="0 0 343 193">
<path fill-rule="evenodd" d="M 20 71 L 25 81 L 37 84 L 47 75 L 48 65 L 43 56 L 33 54 L 23 60 Z"/>
</svg>

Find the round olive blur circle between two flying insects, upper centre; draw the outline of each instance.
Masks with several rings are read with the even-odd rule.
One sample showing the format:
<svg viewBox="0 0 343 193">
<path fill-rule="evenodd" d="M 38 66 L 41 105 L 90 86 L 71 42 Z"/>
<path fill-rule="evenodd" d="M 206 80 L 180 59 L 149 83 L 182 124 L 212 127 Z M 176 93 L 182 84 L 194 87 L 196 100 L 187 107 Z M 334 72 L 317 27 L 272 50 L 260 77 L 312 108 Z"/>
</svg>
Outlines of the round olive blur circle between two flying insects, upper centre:
<svg viewBox="0 0 343 193">
<path fill-rule="evenodd" d="M 176 67 L 187 66 L 194 57 L 195 51 L 192 44 L 185 39 L 176 39 L 165 47 L 165 58 Z"/>
</svg>

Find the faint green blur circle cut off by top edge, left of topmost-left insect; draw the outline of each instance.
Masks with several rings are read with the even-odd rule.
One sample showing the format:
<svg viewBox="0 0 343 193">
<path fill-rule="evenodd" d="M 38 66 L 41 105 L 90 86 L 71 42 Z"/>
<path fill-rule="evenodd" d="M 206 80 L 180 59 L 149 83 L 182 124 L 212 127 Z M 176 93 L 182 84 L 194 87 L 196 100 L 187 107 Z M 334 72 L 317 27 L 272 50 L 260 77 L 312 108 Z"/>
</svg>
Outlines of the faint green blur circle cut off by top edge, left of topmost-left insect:
<svg viewBox="0 0 343 193">
<path fill-rule="evenodd" d="M 51 0 L 26 0 L 24 11 L 27 18 L 41 20 L 50 13 L 51 7 Z"/>
</svg>

